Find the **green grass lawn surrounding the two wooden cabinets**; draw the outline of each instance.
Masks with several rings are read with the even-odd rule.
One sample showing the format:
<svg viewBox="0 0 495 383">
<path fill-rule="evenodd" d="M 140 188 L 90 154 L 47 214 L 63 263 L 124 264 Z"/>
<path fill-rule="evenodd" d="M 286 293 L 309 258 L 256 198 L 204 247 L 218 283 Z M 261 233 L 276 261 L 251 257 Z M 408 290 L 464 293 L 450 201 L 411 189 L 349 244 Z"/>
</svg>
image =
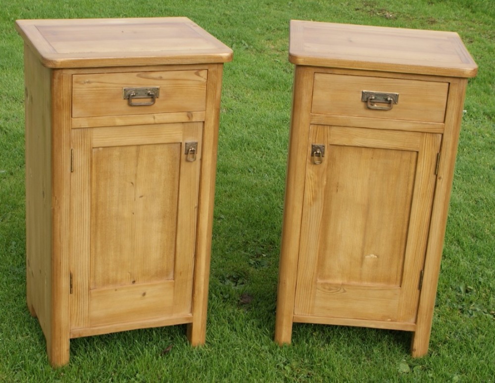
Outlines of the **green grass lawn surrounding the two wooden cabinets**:
<svg viewBox="0 0 495 383">
<path fill-rule="evenodd" d="M 184 326 L 71 340 L 52 370 L 25 305 L 20 18 L 187 16 L 234 49 L 225 65 L 206 345 Z M 295 325 L 273 342 L 293 67 L 290 19 L 456 31 L 470 80 L 430 352 L 410 334 Z M 495 376 L 493 0 L 9 0 L 0 9 L 0 381 L 493 382 Z M 253 300 L 239 303 L 242 294 Z M 168 353 L 163 351 L 173 347 Z"/>
</svg>

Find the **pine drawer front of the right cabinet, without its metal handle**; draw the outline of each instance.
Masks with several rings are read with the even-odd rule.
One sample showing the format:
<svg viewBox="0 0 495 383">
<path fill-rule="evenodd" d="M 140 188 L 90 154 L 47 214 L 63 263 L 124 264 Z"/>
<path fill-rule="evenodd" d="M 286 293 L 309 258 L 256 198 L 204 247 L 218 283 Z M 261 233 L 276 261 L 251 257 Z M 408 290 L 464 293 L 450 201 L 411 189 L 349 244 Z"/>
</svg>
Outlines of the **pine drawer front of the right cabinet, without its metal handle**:
<svg viewBox="0 0 495 383">
<path fill-rule="evenodd" d="M 369 109 L 361 101 L 363 90 L 398 93 L 398 102 L 389 110 Z M 447 92 L 447 83 L 315 73 L 311 112 L 443 123 Z"/>
</svg>

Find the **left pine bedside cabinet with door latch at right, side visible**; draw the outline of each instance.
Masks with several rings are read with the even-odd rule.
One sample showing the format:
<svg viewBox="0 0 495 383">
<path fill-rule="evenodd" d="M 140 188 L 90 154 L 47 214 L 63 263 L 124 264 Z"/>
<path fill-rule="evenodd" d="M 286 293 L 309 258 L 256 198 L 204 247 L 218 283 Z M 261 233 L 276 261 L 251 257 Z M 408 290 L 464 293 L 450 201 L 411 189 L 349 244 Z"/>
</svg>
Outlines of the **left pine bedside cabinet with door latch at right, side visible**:
<svg viewBox="0 0 495 383">
<path fill-rule="evenodd" d="M 69 339 L 188 324 L 204 343 L 223 63 L 187 18 L 19 20 L 27 304 Z"/>
</svg>

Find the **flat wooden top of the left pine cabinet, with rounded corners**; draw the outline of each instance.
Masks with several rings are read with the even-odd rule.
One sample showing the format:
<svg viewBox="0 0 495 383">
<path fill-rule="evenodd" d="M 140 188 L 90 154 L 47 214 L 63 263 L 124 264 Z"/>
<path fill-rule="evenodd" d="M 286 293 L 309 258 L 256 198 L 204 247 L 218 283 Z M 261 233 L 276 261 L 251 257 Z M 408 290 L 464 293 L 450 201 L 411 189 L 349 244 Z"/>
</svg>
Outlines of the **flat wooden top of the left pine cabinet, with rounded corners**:
<svg viewBox="0 0 495 383">
<path fill-rule="evenodd" d="M 221 63 L 232 49 L 186 17 L 17 20 L 49 68 Z"/>
</svg>

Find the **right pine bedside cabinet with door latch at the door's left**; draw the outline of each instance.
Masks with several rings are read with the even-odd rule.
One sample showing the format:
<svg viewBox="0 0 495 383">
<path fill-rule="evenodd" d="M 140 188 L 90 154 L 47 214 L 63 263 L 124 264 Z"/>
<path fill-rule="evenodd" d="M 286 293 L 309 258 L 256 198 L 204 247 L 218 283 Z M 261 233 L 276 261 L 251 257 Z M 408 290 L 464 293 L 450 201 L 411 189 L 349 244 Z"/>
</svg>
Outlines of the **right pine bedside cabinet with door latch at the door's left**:
<svg viewBox="0 0 495 383">
<path fill-rule="evenodd" d="M 292 21 L 275 340 L 293 322 L 413 333 L 427 353 L 467 78 L 458 35 Z"/>
</svg>

